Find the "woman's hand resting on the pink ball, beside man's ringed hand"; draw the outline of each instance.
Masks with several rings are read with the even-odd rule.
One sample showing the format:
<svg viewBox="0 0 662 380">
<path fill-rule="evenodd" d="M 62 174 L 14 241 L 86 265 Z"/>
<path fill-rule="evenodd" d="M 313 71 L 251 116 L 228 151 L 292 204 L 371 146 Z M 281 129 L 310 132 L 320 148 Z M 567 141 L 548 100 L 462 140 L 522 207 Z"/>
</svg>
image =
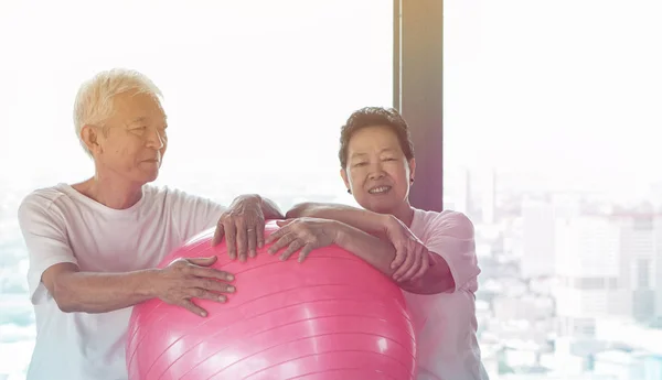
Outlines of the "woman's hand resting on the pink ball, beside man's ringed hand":
<svg viewBox="0 0 662 380">
<path fill-rule="evenodd" d="M 306 260 L 313 249 L 332 245 L 337 238 L 337 225 L 333 220 L 317 218 L 297 218 L 288 220 L 278 220 L 276 224 L 280 227 L 268 238 L 267 243 L 276 241 L 269 247 L 269 253 L 274 254 L 278 250 L 287 247 L 280 254 L 280 260 L 287 260 L 298 250 L 299 262 Z"/>
</svg>

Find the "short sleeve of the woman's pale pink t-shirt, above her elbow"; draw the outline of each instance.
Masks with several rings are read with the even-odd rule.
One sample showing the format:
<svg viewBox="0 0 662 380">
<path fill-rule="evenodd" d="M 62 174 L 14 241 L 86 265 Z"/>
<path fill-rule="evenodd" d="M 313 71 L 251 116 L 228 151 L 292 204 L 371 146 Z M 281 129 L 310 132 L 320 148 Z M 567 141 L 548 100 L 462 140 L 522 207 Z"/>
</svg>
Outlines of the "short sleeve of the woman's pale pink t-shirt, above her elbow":
<svg viewBox="0 0 662 380">
<path fill-rule="evenodd" d="M 471 220 L 462 213 L 446 211 L 431 218 L 429 224 L 426 248 L 446 260 L 456 284 L 455 291 L 476 281 L 480 269 Z"/>
</svg>

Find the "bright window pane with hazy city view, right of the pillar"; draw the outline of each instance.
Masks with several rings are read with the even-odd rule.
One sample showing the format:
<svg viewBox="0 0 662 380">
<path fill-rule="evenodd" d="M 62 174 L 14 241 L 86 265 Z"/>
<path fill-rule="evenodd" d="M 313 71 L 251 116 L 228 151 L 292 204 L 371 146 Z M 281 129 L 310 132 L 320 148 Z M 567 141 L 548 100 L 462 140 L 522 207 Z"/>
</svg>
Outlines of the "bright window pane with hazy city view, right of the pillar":
<svg viewBox="0 0 662 380">
<path fill-rule="evenodd" d="M 444 202 L 467 210 L 477 245 L 502 245 L 499 238 L 485 238 L 488 230 L 513 239 L 512 247 L 524 246 L 526 236 L 535 239 L 531 245 L 554 241 L 553 249 L 545 245 L 552 259 L 541 250 L 488 250 L 501 253 L 479 258 L 479 264 L 489 263 L 479 282 L 551 284 L 556 307 L 547 319 L 556 318 L 559 326 L 583 322 L 549 332 L 556 341 L 551 354 L 544 352 L 534 328 L 523 330 L 521 339 L 542 355 L 538 362 L 517 367 L 492 354 L 502 343 L 487 339 L 481 344 L 483 360 L 492 377 L 510 368 L 526 379 L 588 378 L 590 371 L 576 363 L 589 356 L 564 354 L 566 343 L 581 348 L 612 340 L 639 349 L 647 343 L 616 334 L 629 324 L 641 332 L 637 336 L 656 334 L 636 319 L 645 314 L 651 321 L 662 313 L 661 307 L 638 308 L 653 304 L 653 296 L 634 287 L 652 286 L 648 279 L 662 278 L 660 265 L 637 267 L 638 257 L 662 259 L 654 245 L 638 243 L 660 236 L 662 151 L 654 126 L 662 124 L 662 55 L 655 47 L 662 35 L 662 3 L 444 4 Z M 547 208 L 556 228 L 526 217 L 533 203 Z M 613 217 L 611 210 L 620 211 Z M 634 236 L 637 241 L 630 238 Z M 523 269 L 548 269 L 548 261 L 555 268 L 549 268 L 549 278 L 527 278 L 499 264 L 513 261 Z M 651 292 L 662 300 L 662 286 Z M 504 287 L 498 298 L 519 296 Z M 601 305 L 612 304 L 619 310 L 605 315 Z M 618 328 L 605 327 L 612 318 Z M 492 315 L 481 334 L 491 341 L 494 336 L 505 340 L 498 332 L 506 323 Z"/>
</svg>

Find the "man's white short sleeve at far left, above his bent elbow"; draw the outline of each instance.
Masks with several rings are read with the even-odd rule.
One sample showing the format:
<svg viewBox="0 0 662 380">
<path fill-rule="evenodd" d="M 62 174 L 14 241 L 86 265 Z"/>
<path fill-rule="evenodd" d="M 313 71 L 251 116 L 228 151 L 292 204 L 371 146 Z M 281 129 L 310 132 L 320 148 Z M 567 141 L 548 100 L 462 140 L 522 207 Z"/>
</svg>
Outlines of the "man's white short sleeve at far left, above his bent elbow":
<svg viewBox="0 0 662 380">
<path fill-rule="evenodd" d="M 33 193 L 19 206 L 19 226 L 30 261 L 28 287 L 34 305 L 51 296 L 41 281 L 46 269 L 63 262 L 78 264 L 68 245 L 64 218 L 52 205 L 51 199 Z"/>
</svg>

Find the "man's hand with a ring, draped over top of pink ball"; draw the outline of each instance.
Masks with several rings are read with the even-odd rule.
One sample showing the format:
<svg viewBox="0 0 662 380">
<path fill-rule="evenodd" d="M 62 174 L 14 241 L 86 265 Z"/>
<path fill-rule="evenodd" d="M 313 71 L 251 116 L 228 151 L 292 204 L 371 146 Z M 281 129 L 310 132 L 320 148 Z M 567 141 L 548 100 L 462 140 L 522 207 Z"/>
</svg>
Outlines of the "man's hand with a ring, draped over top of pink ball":
<svg viewBox="0 0 662 380">
<path fill-rule="evenodd" d="M 265 245 L 265 215 L 261 198 L 257 195 L 237 197 L 229 208 L 221 215 L 212 246 L 218 245 L 225 237 L 227 254 L 246 261 L 246 253 L 254 258 L 257 248 Z"/>
</svg>

